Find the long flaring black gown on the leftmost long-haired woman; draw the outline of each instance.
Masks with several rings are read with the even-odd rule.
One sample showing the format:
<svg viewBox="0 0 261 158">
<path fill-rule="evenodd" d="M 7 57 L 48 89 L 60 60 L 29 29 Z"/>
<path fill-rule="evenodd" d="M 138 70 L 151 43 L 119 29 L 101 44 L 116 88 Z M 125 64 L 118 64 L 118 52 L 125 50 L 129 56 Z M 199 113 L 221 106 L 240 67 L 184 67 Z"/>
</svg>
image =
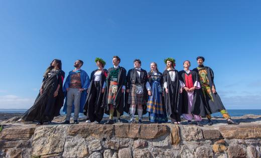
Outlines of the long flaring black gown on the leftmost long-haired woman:
<svg viewBox="0 0 261 158">
<path fill-rule="evenodd" d="M 53 70 L 51 70 L 53 71 Z M 36 97 L 34 105 L 29 108 L 22 119 L 25 121 L 37 120 L 40 122 L 52 121 L 54 116 L 59 115 L 59 111 L 63 105 L 64 93 L 62 92 L 64 71 L 54 71 L 50 77 L 48 75 L 43 79 L 43 94 Z M 54 92 L 58 84 L 60 88 L 58 95 L 54 97 Z"/>
</svg>

